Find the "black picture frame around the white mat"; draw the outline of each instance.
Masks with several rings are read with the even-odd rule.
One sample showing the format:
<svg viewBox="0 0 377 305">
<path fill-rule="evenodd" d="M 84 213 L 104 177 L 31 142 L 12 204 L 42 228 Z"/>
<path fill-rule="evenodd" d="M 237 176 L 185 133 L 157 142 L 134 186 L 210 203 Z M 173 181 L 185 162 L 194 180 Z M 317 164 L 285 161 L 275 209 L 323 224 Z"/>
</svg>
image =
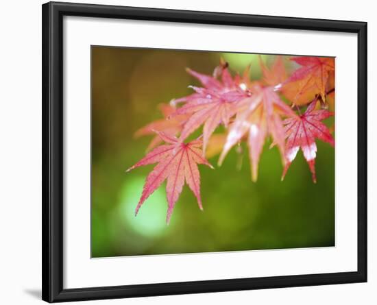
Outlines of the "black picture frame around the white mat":
<svg viewBox="0 0 377 305">
<path fill-rule="evenodd" d="M 356 33 L 357 271 L 63 289 L 63 16 Z M 42 300 L 66 302 L 367 281 L 367 23 L 50 2 L 42 5 Z"/>
</svg>

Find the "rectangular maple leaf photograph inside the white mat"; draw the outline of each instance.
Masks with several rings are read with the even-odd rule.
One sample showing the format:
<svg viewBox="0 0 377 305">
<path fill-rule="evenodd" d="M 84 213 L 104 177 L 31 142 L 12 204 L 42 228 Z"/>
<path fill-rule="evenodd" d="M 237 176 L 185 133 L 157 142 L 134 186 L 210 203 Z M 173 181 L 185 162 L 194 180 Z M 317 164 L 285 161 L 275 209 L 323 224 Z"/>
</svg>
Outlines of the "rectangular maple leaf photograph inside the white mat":
<svg viewBox="0 0 377 305">
<path fill-rule="evenodd" d="M 335 247 L 335 62 L 92 45 L 91 258 Z"/>
</svg>

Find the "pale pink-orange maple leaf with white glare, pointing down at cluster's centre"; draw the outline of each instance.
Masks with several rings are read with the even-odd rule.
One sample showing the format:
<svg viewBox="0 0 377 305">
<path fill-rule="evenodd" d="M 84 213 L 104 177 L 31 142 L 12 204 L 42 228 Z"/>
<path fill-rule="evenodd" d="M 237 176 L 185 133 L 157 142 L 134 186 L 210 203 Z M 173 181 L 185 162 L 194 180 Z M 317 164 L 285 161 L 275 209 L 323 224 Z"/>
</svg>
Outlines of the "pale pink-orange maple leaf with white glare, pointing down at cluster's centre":
<svg viewBox="0 0 377 305">
<path fill-rule="evenodd" d="M 252 180 L 255 182 L 258 177 L 260 153 L 262 152 L 267 134 L 270 134 L 273 141 L 278 145 L 282 162 L 283 164 L 285 163 L 285 136 L 280 115 L 295 117 L 296 114 L 280 99 L 273 90 L 273 87 L 257 85 L 252 89 L 252 93 L 252 97 L 243 101 L 242 104 L 246 105 L 246 107 L 237 114 L 232 127 L 230 127 L 226 144 L 219 158 L 219 165 L 223 162 L 228 151 L 248 134 L 247 145 L 249 147 L 250 164 L 252 166 Z"/>
</svg>

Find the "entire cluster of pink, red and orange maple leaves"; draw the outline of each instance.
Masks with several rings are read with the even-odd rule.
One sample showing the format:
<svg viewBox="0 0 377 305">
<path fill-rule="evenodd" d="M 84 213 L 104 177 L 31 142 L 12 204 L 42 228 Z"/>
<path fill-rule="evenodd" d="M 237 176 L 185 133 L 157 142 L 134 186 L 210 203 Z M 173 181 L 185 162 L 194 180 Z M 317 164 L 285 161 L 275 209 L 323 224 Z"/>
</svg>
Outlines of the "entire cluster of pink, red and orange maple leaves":
<svg viewBox="0 0 377 305">
<path fill-rule="evenodd" d="M 221 165 L 232 147 L 247 143 L 252 180 L 258 178 L 260 154 L 268 136 L 271 147 L 278 147 L 283 164 L 282 180 L 301 148 L 316 182 L 315 139 L 334 147 L 335 141 L 322 121 L 334 115 L 327 110 L 335 94 L 334 58 L 293 57 L 299 67 L 288 75 L 284 60 L 278 56 L 269 68 L 260 60 L 261 80 L 250 80 L 249 67 L 234 77 L 228 63 L 221 60 L 213 75 L 187 69 L 202 86 L 190 86 L 193 93 L 160 106 L 163 119 L 136 132 L 136 136 L 154 135 L 149 153 L 133 167 L 158 163 L 145 181 L 136 214 L 145 199 L 167 180 L 167 223 L 182 192 L 184 182 L 195 194 L 199 208 L 200 176 L 197 164 L 212 165 L 206 156 L 220 154 Z M 304 108 L 306 110 L 304 111 Z M 215 130 L 223 125 L 225 133 Z M 187 138 L 202 127 L 199 138 Z M 161 143 L 165 143 L 160 145 Z"/>
</svg>

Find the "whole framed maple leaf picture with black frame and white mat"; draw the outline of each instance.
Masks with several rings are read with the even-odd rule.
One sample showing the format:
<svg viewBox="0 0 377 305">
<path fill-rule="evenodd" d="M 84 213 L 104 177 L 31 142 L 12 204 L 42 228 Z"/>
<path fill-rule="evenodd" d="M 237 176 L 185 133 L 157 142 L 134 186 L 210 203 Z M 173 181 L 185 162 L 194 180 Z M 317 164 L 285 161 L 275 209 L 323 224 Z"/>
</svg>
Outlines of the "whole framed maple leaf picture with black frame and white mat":
<svg viewBox="0 0 377 305">
<path fill-rule="evenodd" d="M 42 5 L 42 299 L 367 281 L 367 23 Z"/>
</svg>

